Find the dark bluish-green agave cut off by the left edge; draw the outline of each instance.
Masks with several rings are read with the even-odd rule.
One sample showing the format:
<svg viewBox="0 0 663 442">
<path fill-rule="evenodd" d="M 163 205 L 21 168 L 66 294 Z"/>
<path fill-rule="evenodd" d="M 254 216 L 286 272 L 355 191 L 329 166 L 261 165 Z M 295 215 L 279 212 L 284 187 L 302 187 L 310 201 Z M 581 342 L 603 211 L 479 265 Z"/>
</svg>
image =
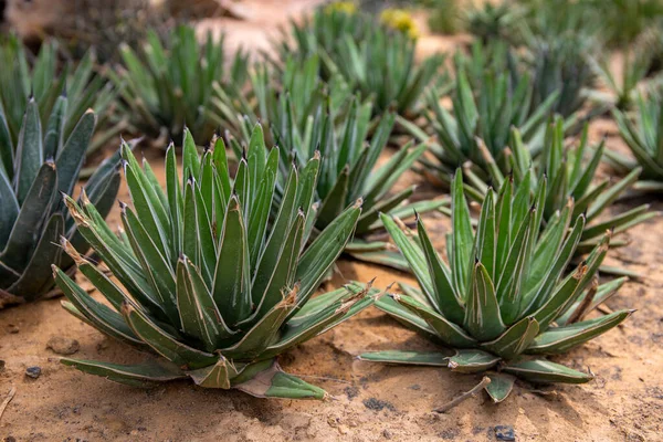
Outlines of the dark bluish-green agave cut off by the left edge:
<svg viewBox="0 0 663 442">
<path fill-rule="evenodd" d="M 71 193 L 93 137 L 95 114 L 83 114 L 65 137 L 67 98 L 57 97 L 42 128 L 40 106 L 28 101 L 18 143 L 0 109 L 0 307 L 50 295 L 55 284 L 50 266 L 72 272 L 73 261 L 57 246 L 60 236 L 73 250 L 87 251 L 59 192 Z M 119 187 L 119 155 L 103 162 L 85 185 L 103 219 Z"/>
</svg>

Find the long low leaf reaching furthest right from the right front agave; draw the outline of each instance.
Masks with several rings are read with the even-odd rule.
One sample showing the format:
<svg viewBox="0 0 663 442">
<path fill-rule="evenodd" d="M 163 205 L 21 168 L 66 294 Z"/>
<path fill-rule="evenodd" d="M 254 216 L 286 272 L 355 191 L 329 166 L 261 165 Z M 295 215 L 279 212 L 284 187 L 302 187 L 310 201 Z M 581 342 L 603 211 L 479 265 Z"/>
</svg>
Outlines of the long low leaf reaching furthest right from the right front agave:
<svg viewBox="0 0 663 442">
<path fill-rule="evenodd" d="M 594 319 L 551 327 L 538 335 L 527 348 L 533 355 L 556 355 L 587 343 L 627 320 L 634 311 L 621 311 Z"/>
</svg>

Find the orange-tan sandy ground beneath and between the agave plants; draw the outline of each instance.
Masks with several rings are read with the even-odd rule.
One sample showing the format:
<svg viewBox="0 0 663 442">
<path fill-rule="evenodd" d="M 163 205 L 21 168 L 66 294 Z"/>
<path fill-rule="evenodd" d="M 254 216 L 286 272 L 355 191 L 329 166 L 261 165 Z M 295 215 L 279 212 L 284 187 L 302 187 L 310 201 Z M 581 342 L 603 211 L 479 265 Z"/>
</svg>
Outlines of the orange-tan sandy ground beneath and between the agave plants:
<svg viewBox="0 0 663 442">
<path fill-rule="evenodd" d="M 590 136 L 594 140 L 607 136 L 610 147 L 623 149 L 608 120 L 593 123 Z M 162 154 L 145 155 L 162 179 Z M 399 187 L 420 180 L 409 173 Z M 436 194 L 422 182 L 420 197 Z M 124 185 L 119 199 L 129 201 Z M 614 210 L 641 202 L 629 200 Z M 652 206 L 663 210 L 661 200 Z M 119 222 L 118 215 L 118 210 L 110 214 L 112 225 Z M 440 214 L 424 220 L 443 250 L 449 220 Z M 555 358 L 576 369 L 590 368 L 596 380 L 585 386 L 517 383 L 502 404 L 482 393 L 445 414 L 432 413 L 434 407 L 475 386 L 480 376 L 356 360 L 365 350 L 433 348 L 368 309 L 280 359 L 286 371 L 325 388 L 334 400 L 267 401 L 189 382 L 144 390 L 61 366 L 59 355 L 48 348 L 52 338 L 75 339 L 80 348 L 74 357 L 83 359 L 129 364 L 147 356 L 105 337 L 52 299 L 0 312 L 0 404 L 15 388 L 0 418 L 0 436 L 6 441 L 494 441 L 495 427 L 505 425 L 513 428 L 518 441 L 663 440 L 663 218 L 632 229 L 627 238 L 631 244 L 612 251 L 609 263 L 645 278 L 625 284 L 608 305 L 638 312 L 622 327 Z M 413 283 L 402 273 L 340 261 L 328 288 L 345 280 L 372 277 L 378 287 L 394 281 Z M 41 367 L 38 379 L 25 376 L 33 366 Z"/>
</svg>

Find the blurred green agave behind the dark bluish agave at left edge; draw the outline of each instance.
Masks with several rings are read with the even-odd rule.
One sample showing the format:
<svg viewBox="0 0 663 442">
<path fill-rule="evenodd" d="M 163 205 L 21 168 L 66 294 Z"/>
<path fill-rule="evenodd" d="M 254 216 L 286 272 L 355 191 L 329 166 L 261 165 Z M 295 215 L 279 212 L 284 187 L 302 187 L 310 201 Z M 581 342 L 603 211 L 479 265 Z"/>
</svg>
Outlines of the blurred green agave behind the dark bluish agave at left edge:
<svg viewBox="0 0 663 442">
<path fill-rule="evenodd" d="M 88 51 L 77 66 L 70 64 L 59 70 L 59 45 L 46 42 L 41 46 L 33 63 L 30 63 L 22 42 L 10 35 L 0 44 L 0 107 L 4 109 L 11 140 L 19 140 L 23 116 L 32 97 L 39 103 L 42 125 L 53 114 L 54 106 L 62 94 L 67 96 L 63 137 L 66 139 L 87 109 L 94 109 L 98 116 L 101 130 L 87 147 L 92 154 L 106 145 L 126 127 L 126 123 L 115 120 L 116 90 L 103 76 L 95 73 L 95 55 Z"/>
</svg>

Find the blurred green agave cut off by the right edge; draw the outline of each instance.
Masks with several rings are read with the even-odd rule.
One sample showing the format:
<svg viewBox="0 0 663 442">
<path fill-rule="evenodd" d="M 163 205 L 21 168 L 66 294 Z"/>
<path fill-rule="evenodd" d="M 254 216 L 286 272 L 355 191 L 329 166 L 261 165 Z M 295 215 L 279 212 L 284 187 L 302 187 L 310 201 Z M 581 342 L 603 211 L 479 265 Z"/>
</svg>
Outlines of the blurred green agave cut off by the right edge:
<svg viewBox="0 0 663 442">
<path fill-rule="evenodd" d="M 622 171 L 642 168 L 642 179 L 634 188 L 663 191 L 663 93 L 650 88 L 649 94 L 640 94 L 636 113 L 630 117 L 614 109 L 619 131 L 631 149 L 635 160 L 613 151 L 608 151 L 611 161 Z"/>
</svg>

